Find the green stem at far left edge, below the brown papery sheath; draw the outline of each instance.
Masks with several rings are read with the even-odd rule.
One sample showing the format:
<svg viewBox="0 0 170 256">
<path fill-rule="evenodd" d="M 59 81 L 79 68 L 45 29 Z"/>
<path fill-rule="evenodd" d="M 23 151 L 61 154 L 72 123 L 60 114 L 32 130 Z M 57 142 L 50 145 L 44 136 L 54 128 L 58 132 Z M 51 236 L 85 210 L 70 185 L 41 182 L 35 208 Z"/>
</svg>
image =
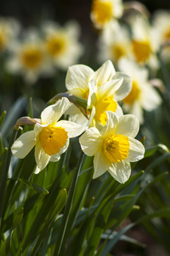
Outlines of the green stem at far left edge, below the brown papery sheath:
<svg viewBox="0 0 170 256">
<path fill-rule="evenodd" d="M 8 167 L 9 167 L 10 159 L 11 159 L 10 148 L 11 148 L 12 144 L 14 143 L 16 134 L 17 134 L 17 131 L 13 130 L 13 133 L 11 135 L 10 142 L 8 145 L 8 152 L 6 155 L 2 179 L 1 179 L 1 183 L 0 183 L 0 232 L 1 232 L 1 228 L 2 228 L 2 222 L 3 222 L 3 207 L 4 207 L 6 184 L 7 184 L 7 178 L 8 178 Z"/>
</svg>

